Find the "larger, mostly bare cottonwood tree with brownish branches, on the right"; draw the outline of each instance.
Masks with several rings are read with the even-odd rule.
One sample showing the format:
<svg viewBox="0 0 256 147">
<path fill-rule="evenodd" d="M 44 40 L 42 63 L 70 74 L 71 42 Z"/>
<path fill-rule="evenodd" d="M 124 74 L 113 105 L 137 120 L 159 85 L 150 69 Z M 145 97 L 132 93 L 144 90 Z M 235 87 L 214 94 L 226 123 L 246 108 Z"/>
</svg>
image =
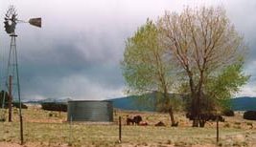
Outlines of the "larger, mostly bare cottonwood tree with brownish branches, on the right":
<svg viewBox="0 0 256 147">
<path fill-rule="evenodd" d="M 161 30 L 159 40 L 172 58 L 170 64 L 185 73 L 179 82 L 190 89 L 189 111 L 196 127 L 207 96 L 218 98 L 232 94 L 245 83 L 247 77 L 241 68 L 232 71 L 232 67 L 244 65 L 243 37 L 222 8 L 187 8 L 180 14 L 167 11 L 157 25 Z M 234 80 L 233 85 L 229 76 Z"/>
</svg>

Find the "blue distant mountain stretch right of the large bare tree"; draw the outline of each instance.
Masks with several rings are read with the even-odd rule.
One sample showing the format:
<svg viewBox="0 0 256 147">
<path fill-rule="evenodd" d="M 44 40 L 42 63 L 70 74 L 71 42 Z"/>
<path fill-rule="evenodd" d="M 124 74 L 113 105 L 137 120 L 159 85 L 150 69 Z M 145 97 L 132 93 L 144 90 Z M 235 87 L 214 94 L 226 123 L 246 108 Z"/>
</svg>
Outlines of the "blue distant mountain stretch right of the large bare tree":
<svg viewBox="0 0 256 147">
<path fill-rule="evenodd" d="M 256 111 L 256 97 L 232 98 L 231 109 L 234 111 Z"/>
</svg>

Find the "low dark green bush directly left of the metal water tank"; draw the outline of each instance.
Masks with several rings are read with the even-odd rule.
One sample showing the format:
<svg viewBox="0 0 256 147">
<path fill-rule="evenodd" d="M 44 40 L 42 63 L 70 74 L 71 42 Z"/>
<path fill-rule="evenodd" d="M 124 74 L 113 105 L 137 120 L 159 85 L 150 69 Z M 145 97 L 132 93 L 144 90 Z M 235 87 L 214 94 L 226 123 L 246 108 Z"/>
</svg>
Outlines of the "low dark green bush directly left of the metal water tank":
<svg viewBox="0 0 256 147">
<path fill-rule="evenodd" d="M 65 103 L 44 102 L 41 103 L 41 106 L 43 110 L 67 112 L 67 104 Z"/>
</svg>

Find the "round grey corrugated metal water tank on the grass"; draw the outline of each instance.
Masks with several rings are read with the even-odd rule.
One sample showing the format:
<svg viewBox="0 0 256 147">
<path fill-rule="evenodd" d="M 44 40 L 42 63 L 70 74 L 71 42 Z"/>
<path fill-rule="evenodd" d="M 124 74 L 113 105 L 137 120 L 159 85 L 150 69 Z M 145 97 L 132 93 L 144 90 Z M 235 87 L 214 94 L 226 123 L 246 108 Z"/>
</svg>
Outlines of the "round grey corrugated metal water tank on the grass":
<svg viewBox="0 0 256 147">
<path fill-rule="evenodd" d="M 70 121 L 113 121 L 111 101 L 72 100 L 68 101 L 67 120 Z"/>
</svg>

